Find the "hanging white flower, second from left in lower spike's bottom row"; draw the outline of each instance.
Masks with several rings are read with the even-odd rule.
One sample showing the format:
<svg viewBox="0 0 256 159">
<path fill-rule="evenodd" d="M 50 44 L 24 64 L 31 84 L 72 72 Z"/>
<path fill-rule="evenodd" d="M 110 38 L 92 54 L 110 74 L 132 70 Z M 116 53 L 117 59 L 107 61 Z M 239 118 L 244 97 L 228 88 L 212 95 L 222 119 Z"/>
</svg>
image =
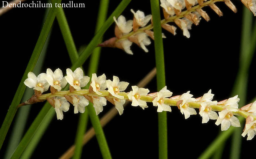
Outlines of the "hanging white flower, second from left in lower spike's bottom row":
<svg viewBox="0 0 256 159">
<path fill-rule="evenodd" d="M 74 105 L 74 113 L 84 113 L 85 107 L 89 105 L 89 101 L 84 96 L 72 95 L 72 102 Z"/>
</svg>

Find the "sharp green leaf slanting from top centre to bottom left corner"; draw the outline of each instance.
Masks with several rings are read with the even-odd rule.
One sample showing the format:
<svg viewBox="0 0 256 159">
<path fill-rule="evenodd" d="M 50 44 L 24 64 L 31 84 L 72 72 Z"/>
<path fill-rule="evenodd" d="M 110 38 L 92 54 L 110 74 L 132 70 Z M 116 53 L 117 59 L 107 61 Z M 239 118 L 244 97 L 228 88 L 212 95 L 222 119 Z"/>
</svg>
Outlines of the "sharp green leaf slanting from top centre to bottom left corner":
<svg viewBox="0 0 256 159">
<path fill-rule="evenodd" d="M 104 23 L 104 25 L 102 26 L 102 28 L 97 32 L 97 34 L 95 35 L 95 37 L 93 38 L 94 41 L 90 42 L 90 48 L 85 49 L 85 51 L 83 51 L 83 55 L 85 54 L 90 54 L 91 51 L 94 49 L 94 47 L 96 47 L 98 40 L 103 36 L 103 34 L 105 33 L 105 31 L 109 28 L 109 26 L 113 23 L 113 16 L 119 16 L 121 14 L 121 12 L 126 8 L 126 6 L 128 5 L 128 3 L 130 3 L 131 0 L 122 0 L 122 2 L 118 5 L 118 7 L 115 9 L 115 11 L 111 14 L 111 16 L 108 18 L 108 20 Z M 112 20 L 111 20 L 112 19 Z M 98 40 L 97 40 L 98 39 Z M 89 55 L 88 55 L 89 56 Z M 81 58 L 79 58 L 81 60 Z M 83 60 L 83 59 L 82 59 Z M 85 61 L 86 59 L 84 59 Z M 83 62 L 84 62 L 83 61 Z M 72 68 L 73 70 L 77 67 L 80 67 L 83 62 L 79 61 L 76 65 L 73 65 Z M 80 64 L 80 65 L 78 65 Z M 53 109 L 53 108 L 52 108 Z M 38 127 L 42 124 L 42 120 L 44 119 L 44 117 L 46 116 L 46 114 L 48 113 L 48 111 L 50 110 L 50 105 L 47 102 L 42 110 L 40 111 L 40 113 L 37 115 L 36 119 L 33 121 L 32 125 L 30 126 L 29 130 L 26 132 L 25 136 L 23 137 L 21 143 L 18 145 L 16 151 L 23 151 L 24 148 L 26 147 L 26 145 L 30 142 L 30 139 L 33 137 L 34 133 L 36 132 L 36 130 L 38 129 Z M 48 125 L 49 123 L 44 123 L 45 125 Z M 23 150 L 22 150 L 23 149 Z M 18 156 L 18 155 L 16 155 Z"/>
</svg>

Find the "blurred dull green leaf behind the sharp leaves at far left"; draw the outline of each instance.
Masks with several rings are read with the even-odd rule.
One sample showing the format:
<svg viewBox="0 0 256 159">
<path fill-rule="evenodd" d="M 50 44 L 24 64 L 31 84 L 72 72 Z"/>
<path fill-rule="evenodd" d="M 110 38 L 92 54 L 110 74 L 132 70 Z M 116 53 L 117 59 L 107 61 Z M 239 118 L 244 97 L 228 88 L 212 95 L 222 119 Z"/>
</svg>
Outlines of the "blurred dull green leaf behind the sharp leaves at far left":
<svg viewBox="0 0 256 159">
<path fill-rule="evenodd" d="M 49 13 L 49 10 L 50 10 L 50 8 L 47 8 L 46 11 L 45 11 L 45 18 L 43 20 L 43 23 L 44 23 L 47 15 Z M 41 68 L 42 68 L 44 58 L 45 58 L 45 55 L 46 55 L 46 50 L 47 50 L 47 47 L 48 47 L 48 44 L 49 44 L 50 35 L 51 35 L 51 31 L 49 32 L 49 35 L 48 35 L 48 37 L 46 39 L 46 42 L 43 46 L 42 52 L 41 52 L 41 54 L 38 58 L 36 66 L 33 70 L 33 72 L 36 75 L 41 73 Z M 25 101 L 25 100 L 29 99 L 33 94 L 34 94 L 33 89 L 26 88 L 25 93 L 22 97 L 22 101 Z M 24 133 L 24 128 L 25 128 L 25 125 L 27 123 L 27 118 L 28 118 L 28 115 L 29 115 L 29 112 L 30 112 L 30 108 L 31 108 L 31 105 L 21 107 L 21 108 L 18 109 L 17 117 L 15 118 L 15 123 L 14 123 L 13 130 L 12 130 L 12 133 L 11 133 L 11 138 L 8 142 L 8 146 L 7 146 L 6 154 L 5 154 L 4 158 L 10 158 L 12 153 L 14 152 L 16 147 L 18 146 L 19 142 L 21 141 L 23 133 Z"/>
</svg>

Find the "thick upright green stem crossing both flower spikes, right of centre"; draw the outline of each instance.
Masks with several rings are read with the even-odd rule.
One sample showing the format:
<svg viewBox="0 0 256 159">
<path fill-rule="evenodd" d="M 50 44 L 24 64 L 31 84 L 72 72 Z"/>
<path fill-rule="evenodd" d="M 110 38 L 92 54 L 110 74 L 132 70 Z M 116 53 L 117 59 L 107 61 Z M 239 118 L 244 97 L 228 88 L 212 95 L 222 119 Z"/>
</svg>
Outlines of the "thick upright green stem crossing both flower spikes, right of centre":
<svg viewBox="0 0 256 159">
<path fill-rule="evenodd" d="M 165 86 L 164 50 L 159 0 L 150 0 L 154 27 L 157 90 Z M 167 112 L 158 113 L 159 158 L 167 159 Z"/>
</svg>

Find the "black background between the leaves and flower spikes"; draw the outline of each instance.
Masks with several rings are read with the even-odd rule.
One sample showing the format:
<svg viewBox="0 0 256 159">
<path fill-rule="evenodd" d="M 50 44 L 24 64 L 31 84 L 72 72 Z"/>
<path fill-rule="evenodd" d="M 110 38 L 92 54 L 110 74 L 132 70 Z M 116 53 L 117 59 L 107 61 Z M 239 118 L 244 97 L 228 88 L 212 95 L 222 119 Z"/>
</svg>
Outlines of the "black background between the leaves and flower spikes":
<svg viewBox="0 0 256 159">
<path fill-rule="evenodd" d="M 88 44 L 94 36 L 99 1 L 76 0 L 74 2 L 85 3 L 85 8 L 64 8 L 64 11 L 75 45 L 80 48 Z M 108 15 L 120 2 L 121 0 L 110 1 Z M 27 1 L 27 3 L 31 3 L 31 1 Z M 63 0 L 62 3 L 68 3 L 68 1 Z M 243 6 L 240 1 L 233 0 L 233 3 L 238 9 L 236 14 L 223 2 L 216 3 L 224 13 L 223 17 L 219 17 L 209 7 L 205 7 L 204 10 L 207 11 L 211 20 L 206 22 L 202 19 L 199 26 L 193 25 L 192 30 L 189 31 L 191 34 L 189 39 L 183 36 L 179 28 L 177 28 L 175 36 L 163 30 L 167 37 L 163 40 L 166 85 L 174 95 L 190 90 L 194 97 L 199 97 L 212 89 L 212 93 L 215 94 L 214 100 L 220 101 L 231 96 L 239 64 Z M 151 14 L 149 0 L 132 1 L 122 13 L 127 20 L 133 18 L 130 9 L 135 11 L 140 9 L 146 15 Z M 2 91 L 4 92 L 1 123 L 40 34 L 44 12 L 44 8 L 13 8 L 0 17 Z M 104 40 L 114 36 L 114 27 L 113 24 L 107 30 Z M 107 79 L 111 80 L 113 75 L 118 76 L 120 81 L 130 83 L 128 86 L 130 89 L 155 66 L 154 42 L 152 41 L 147 48 L 149 52 L 145 53 L 133 44 L 131 49 L 134 55 L 132 56 L 120 49 L 102 48 L 98 75 L 105 73 Z M 256 95 L 255 61 L 254 56 L 246 88 L 248 102 Z M 47 68 L 52 70 L 60 68 L 65 73 L 66 68 L 70 66 L 68 52 L 55 20 L 42 72 L 45 72 Z M 88 60 L 83 66 L 87 70 Z M 156 79 L 154 78 L 146 88 L 150 92 L 155 92 L 157 90 Z M 26 130 L 42 106 L 43 104 L 32 106 Z M 121 116 L 116 116 L 104 127 L 113 158 L 158 158 L 157 108 L 150 103 L 148 106 L 147 109 L 142 110 L 140 107 L 128 105 Z M 99 117 L 111 107 L 113 107 L 111 103 L 104 106 Z M 207 124 L 201 124 L 199 114 L 192 115 L 185 120 L 184 115 L 176 107 L 172 108 L 172 113 L 168 112 L 167 114 L 169 158 L 177 155 L 182 158 L 198 157 L 220 131 L 220 126 L 216 126 L 213 120 Z M 58 158 L 67 150 L 74 143 L 78 117 L 79 114 L 74 114 L 71 106 L 70 110 L 64 113 L 63 120 L 54 118 L 32 158 Z M 0 158 L 3 157 L 6 149 L 11 128 L 0 152 Z M 246 138 L 242 138 L 242 140 L 241 158 L 253 155 L 255 138 L 252 141 L 246 141 Z M 224 150 L 225 158 L 228 157 L 229 150 L 230 139 L 227 140 Z M 84 146 L 82 157 L 102 157 L 95 137 Z"/>
</svg>

